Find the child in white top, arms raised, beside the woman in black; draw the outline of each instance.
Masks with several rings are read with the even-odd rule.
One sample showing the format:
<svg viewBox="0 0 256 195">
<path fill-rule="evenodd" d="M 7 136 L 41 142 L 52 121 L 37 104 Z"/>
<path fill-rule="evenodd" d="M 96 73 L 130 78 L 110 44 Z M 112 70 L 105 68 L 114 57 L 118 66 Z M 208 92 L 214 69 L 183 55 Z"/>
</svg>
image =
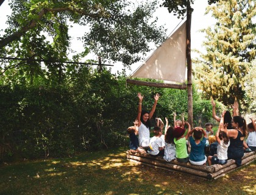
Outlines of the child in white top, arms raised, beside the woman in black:
<svg viewBox="0 0 256 195">
<path fill-rule="evenodd" d="M 227 149 L 229 148 L 230 141 L 227 132 L 227 124 L 223 124 L 224 115 L 221 117 L 219 129 L 216 132 L 216 140 L 218 141 L 217 154 L 208 156 L 208 165 L 220 164 L 225 165 L 227 163 Z"/>
</svg>

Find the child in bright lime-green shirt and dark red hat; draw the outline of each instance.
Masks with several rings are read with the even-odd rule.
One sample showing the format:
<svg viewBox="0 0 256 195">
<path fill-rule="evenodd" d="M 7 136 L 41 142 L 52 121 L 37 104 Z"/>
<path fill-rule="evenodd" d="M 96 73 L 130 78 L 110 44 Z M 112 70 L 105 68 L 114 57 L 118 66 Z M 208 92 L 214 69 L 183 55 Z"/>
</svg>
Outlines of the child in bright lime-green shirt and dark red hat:
<svg viewBox="0 0 256 195">
<path fill-rule="evenodd" d="M 185 129 L 182 129 L 181 127 L 176 127 L 173 131 L 174 136 L 174 143 L 176 146 L 176 158 L 177 161 L 180 163 L 187 163 L 188 162 L 188 152 L 187 152 L 187 139 L 188 134 L 190 132 L 190 124 L 188 122 L 185 122 L 188 126 L 188 133 L 184 137 Z"/>
</svg>

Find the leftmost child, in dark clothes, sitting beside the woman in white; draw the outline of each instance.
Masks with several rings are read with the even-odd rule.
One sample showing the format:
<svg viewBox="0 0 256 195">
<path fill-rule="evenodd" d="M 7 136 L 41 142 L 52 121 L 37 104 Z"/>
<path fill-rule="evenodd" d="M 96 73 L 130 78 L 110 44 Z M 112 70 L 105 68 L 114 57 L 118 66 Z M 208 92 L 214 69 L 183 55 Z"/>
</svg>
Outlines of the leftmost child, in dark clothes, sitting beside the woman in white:
<svg viewBox="0 0 256 195">
<path fill-rule="evenodd" d="M 143 147 L 139 147 L 138 143 L 138 121 L 135 120 L 134 126 L 128 127 L 127 133 L 129 133 L 130 137 L 130 152 L 132 153 L 139 153 L 139 154 L 144 154 L 146 151 L 144 151 Z"/>
</svg>

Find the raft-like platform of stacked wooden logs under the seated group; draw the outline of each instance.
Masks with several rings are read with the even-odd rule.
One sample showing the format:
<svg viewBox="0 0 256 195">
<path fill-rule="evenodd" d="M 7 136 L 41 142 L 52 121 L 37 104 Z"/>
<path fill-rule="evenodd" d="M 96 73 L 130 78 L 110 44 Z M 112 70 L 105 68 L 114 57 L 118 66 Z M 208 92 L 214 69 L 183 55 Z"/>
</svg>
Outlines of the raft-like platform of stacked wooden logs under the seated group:
<svg viewBox="0 0 256 195">
<path fill-rule="evenodd" d="M 204 177 L 207 179 L 218 179 L 219 177 L 225 176 L 228 172 L 233 171 L 238 168 L 235 164 L 235 160 L 228 160 L 226 165 L 191 165 L 188 163 L 179 163 L 177 160 L 172 160 L 167 162 L 163 157 L 153 157 L 149 154 L 132 154 L 132 152 L 127 151 L 128 160 L 140 164 L 153 166 L 155 168 L 165 169 L 167 171 L 180 171 L 192 174 L 194 176 Z M 242 166 L 252 163 L 256 159 L 255 152 L 244 153 L 242 158 Z"/>
</svg>

